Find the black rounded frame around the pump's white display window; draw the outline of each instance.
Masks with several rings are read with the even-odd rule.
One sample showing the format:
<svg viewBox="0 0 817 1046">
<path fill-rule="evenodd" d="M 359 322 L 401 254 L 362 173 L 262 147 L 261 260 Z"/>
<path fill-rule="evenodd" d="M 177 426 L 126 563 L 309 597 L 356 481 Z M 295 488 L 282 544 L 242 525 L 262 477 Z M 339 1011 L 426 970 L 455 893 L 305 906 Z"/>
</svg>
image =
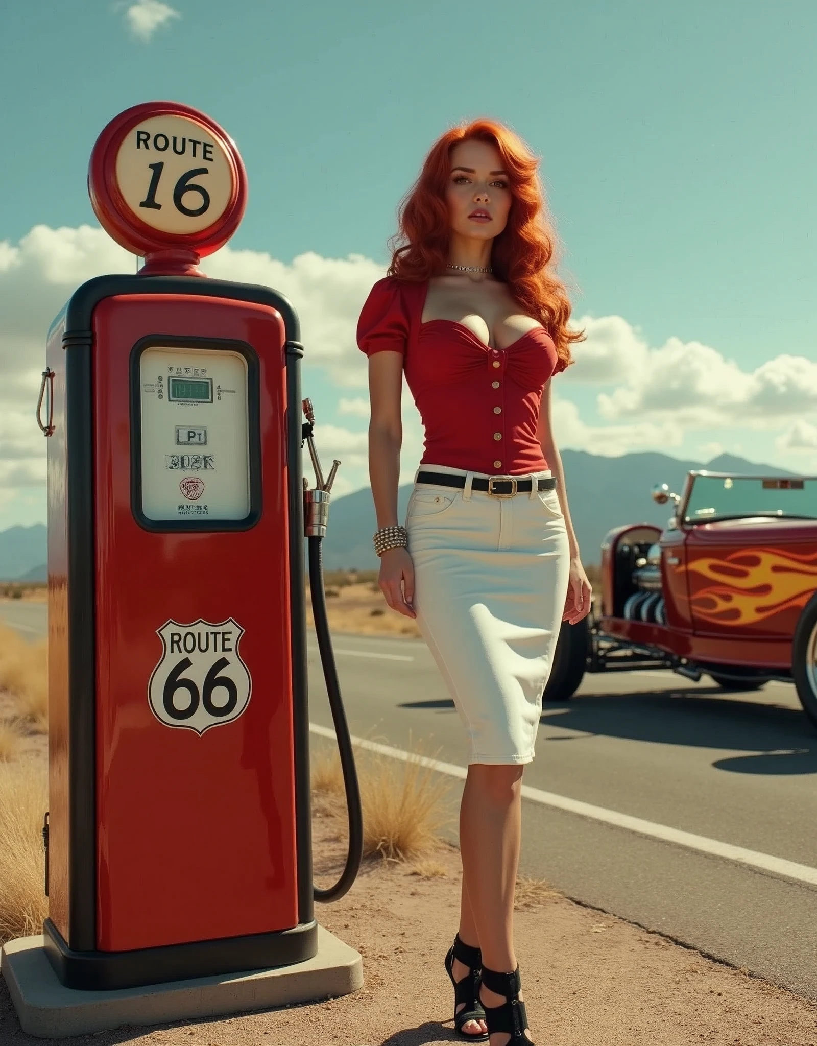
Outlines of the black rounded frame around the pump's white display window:
<svg viewBox="0 0 817 1046">
<path fill-rule="evenodd" d="M 142 353 L 149 348 L 198 348 L 209 351 L 237 353 L 247 364 L 247 432 L 249 435 L 250 510 L 244 519 L 174 519 L 154 520 L 142 509 L 142 410 L 141 372 Z M 182 531 L 225 531 L 249 530 L 262 516 L 262 469 L 260 469 L 260 367 L 258 356 L 246 341 L 228 338 L 179 338 L 174 335 L 152 334 L 139 341 L 131 349 L 131 511 L 136 522 L 144 530 L 155 533 Z M 166 394 L 166 393 L 165 393 Z"/>
</svg>

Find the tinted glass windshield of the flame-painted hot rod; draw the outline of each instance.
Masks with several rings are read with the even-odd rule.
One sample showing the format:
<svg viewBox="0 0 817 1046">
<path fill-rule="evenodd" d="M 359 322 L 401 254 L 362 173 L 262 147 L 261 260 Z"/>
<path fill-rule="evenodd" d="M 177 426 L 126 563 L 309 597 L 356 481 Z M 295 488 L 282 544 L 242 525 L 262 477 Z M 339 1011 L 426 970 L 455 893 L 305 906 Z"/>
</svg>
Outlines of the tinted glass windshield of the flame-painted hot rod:
<svg viewBox="0 0 817 1046">
<path fill-rule="evenodd" d="M 817 478 L 694 476 L 685 523 L 743 516 L 817 519 Z"/>
</svg>

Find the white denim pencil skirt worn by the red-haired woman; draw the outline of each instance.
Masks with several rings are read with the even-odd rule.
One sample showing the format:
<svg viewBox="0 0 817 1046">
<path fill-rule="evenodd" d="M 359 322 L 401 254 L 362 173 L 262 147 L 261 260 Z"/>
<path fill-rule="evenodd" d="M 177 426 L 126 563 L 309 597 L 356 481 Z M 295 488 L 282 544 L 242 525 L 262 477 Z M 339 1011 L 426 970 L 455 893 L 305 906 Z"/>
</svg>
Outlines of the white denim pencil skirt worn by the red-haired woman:
<svg viewBox="0 0 817 1046">
<path fill-rule="evenodd" d="M 557 492 L 498 498 L 471 490 L 486 473 L 422 469 L 464 476 L 466 488 L 418 484 L 415 474 L 406 528 L 417 624 L 466 728 L 469 763 L 529 763 L 567 595 Z"/>
</svg>

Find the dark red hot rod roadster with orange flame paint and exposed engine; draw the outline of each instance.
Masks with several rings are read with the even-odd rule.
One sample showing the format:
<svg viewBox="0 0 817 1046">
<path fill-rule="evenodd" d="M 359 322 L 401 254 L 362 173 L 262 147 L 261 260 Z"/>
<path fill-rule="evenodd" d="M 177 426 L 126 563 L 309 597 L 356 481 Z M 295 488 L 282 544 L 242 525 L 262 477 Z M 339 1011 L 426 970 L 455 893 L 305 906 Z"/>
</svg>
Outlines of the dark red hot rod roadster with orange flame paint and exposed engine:
<svg viewBox="0 0 817 1046">
<path fill-rule="evenodd" d="M 653 499 L 672 517 L 607 535 L 600 599 L 562 626 L 544 699 L 586 672 L 672 668 L 726 690 L 793 682 L 817 726 L 817 477 L 690 472 Z"/>
</svg>

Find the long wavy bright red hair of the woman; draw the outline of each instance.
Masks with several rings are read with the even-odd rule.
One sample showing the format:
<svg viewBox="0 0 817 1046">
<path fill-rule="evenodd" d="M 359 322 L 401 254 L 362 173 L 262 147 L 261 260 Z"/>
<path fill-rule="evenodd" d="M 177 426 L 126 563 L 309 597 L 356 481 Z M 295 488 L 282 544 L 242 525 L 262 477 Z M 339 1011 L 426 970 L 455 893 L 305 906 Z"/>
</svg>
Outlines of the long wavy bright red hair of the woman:
<svg viewBox="0 0 817 1046">
<path fill-rule="evenodd" d="M 547 329 L 559 358 L 571 363 L 570 343 L 583 341 L 585 333 L 567 326 L 570 301 L 554 271 L 558 240 L 539 179 L 539 159 L 517 134 L 496 120 L 478 119 L 451 128 L 431 146 L 419 177 L 401 202 L 400 228 L 389 241 L 388 274 L 425 282 L 445 271 L 451 230 L 446 202 L 451 150 L 471 139 L 496 146 L 514 196 L 507 224 L 494 240 L 494 275 L 507 283 L 525 312 Z"/>
</svg>

